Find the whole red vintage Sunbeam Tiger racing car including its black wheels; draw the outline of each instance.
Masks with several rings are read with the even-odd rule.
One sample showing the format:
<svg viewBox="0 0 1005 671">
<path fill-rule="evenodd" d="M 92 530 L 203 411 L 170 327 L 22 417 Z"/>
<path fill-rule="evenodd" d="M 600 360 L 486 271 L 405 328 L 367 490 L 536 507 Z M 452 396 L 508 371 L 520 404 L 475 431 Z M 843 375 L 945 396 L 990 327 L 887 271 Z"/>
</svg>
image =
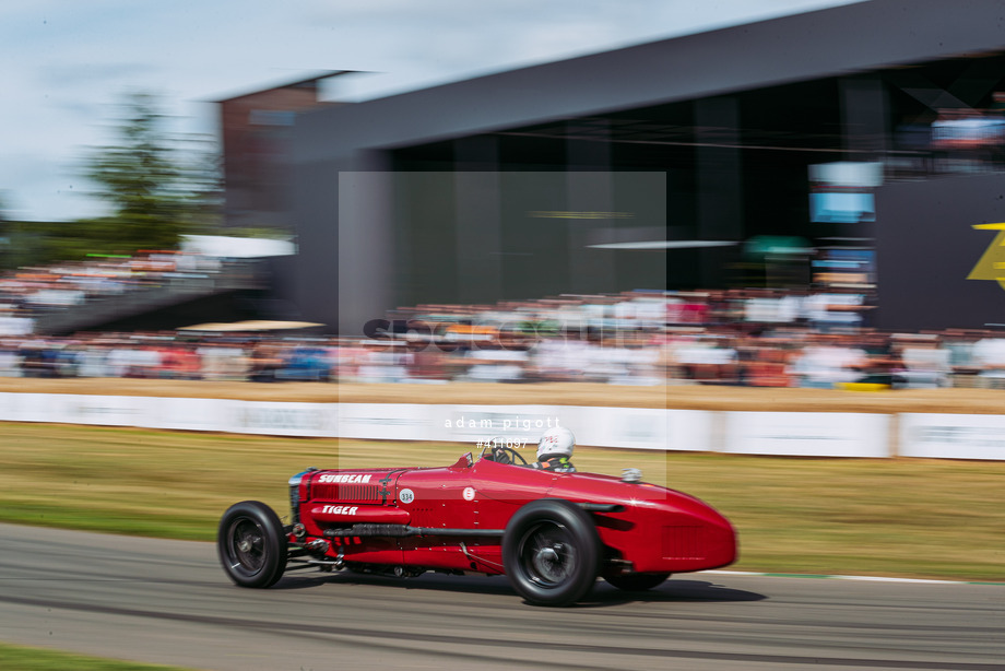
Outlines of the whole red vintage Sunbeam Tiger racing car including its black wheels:
<svg viewBox="0 0 1005 671">
<path fill-rule="evenodd" d="M 528 602 L 567 605 L 598 576 L 643 590 L 736 558 L 722 515 L 639 475 L 540 470 L 501 445 L 442 468 L 309 469 L 289 479 L 287 526 L 259 502 L 227 509 L 220 561 L 259 588 L 310 567 L 505 574 Z"/>
</svg>

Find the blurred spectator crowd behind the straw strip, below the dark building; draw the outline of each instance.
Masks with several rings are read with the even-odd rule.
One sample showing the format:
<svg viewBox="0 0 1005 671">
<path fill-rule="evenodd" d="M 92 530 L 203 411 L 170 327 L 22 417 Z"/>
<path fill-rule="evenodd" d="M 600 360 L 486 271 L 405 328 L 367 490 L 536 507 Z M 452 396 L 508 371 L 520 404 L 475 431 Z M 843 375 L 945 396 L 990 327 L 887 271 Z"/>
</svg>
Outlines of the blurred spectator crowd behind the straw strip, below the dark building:
<svg viewBox="0 0 1005 671">
<path fill-rule="evenodd" d="M 0 376 L 1005 388 L 1005 334 L 886 333 L 868 316 L 864 295 L 837 290 L 564 295 L 400 309 L 364 338 L 0 336 Z"/>
</svg>

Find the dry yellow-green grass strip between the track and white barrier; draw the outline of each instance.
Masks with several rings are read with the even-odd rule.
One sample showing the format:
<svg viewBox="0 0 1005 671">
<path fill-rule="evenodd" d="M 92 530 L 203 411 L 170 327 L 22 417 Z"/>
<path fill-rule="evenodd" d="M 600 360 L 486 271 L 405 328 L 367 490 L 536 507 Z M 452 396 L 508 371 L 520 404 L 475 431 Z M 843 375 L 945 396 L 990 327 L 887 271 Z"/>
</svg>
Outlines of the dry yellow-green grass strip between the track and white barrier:
<svg viewBox="0 0 1005 671">
<path fill-rule="evenodd" d="M 0 429 L 0 520 L 191 540 L 212 540 L 237 501 L 285 515 L 286 480 L 308 466 L 442 466 L 465 449 L 57 424 Z M 612 474 L 641 468 L 647 481 L 710 503 L 740 533 L 738 570 L 1005 581 L 1005 463 L 599 449 L 577 450 L 576 463 Z"/>
</svg>

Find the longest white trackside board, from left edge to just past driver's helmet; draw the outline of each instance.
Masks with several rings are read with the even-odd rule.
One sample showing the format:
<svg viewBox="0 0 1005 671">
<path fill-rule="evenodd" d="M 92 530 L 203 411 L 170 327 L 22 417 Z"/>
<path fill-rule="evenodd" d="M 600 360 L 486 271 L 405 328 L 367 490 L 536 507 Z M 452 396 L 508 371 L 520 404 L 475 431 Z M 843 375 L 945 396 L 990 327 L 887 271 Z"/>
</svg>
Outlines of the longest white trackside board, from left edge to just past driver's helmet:
<svg viewBox="0 0 1005 671">
<path fill-rule="evenodd" d="M 535 446 L 547 428 L 567 426 L 580 445 L 707 451 L 711 449 L 712 415 L 691 410 L 579 405 L 282 403 L 0 393 L 0 421 L 473 445 L 501 437 Z"/>
</svg>

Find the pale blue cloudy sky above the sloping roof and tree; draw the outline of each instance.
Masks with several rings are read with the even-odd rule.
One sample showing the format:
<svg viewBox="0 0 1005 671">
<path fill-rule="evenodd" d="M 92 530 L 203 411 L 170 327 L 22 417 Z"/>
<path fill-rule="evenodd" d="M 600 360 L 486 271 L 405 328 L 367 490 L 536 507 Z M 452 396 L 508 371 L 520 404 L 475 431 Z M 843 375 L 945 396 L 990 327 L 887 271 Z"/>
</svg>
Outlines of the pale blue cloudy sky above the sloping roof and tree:
<svg viewBox="0 0 1005 671">
<path fill-rule="evenodd" d="M 172 130 L 218 137 L 213 101 L 309 76 L 364 101 L 852 0 L 3 0 L 0 208 L 22 221 L 100 214 L 81 176 L 129 92 Z"/>
</svg>

